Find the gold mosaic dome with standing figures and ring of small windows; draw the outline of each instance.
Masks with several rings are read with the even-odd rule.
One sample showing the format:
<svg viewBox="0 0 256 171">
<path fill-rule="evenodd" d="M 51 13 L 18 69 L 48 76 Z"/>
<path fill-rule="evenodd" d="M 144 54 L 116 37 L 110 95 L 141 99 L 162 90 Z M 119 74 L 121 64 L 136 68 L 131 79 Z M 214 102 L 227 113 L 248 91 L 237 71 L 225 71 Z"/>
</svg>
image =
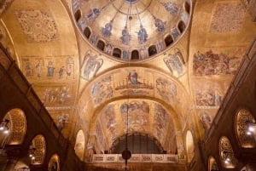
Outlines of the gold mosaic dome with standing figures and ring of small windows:
<svg viewBox="0 0 256 171">
<path fill-rule="evenodd" d="M 189 26 L 190 9 L 190 0 L 73 0 L 85 40 L 119 60 L 145 60 L 172 47 Z"/>
</svg>

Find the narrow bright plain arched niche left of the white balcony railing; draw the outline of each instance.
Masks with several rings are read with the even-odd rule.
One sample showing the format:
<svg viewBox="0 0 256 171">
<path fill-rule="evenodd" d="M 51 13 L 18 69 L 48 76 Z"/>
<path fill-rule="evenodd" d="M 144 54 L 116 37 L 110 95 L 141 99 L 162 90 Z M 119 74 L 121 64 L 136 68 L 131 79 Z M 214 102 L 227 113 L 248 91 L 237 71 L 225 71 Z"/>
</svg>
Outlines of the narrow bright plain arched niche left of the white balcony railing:
<svg viewBox="0 0 256 171">
<path fill-rule="evenodd" d="M 77 134 L 76 144 L 74 146 L 74 150 L 76 155 L 79 157 L 81 161 L 84 160 L 84 145 L 85 145 L 85 138 L 83 130 L 79 130 Z"/>
</svg>

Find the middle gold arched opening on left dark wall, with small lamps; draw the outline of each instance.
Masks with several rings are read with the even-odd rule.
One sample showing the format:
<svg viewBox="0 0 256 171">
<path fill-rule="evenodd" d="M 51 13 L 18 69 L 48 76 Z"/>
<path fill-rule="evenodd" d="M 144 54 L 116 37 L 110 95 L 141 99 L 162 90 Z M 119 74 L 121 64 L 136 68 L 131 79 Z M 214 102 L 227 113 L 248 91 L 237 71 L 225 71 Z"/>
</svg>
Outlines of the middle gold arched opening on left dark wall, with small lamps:
<svg viewBox="0 0 256 171">
<path fill-rule="evenodd" d="M 33 138 L 31 145 L 29 146 L 28 154 L 31 158 L 33 165 L 39 165 L 44 163 L 44 157 L 46 152 L 45 139 L 42 134 L 38 134 Z"/>
</svg>

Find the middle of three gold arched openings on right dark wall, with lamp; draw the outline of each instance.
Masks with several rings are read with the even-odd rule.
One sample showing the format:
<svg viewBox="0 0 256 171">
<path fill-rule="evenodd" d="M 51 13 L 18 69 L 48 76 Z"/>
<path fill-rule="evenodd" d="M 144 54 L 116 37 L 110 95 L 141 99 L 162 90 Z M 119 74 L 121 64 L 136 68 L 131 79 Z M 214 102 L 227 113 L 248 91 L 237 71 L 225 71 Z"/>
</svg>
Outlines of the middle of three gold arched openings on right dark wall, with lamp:
<svg viewBox="0 0 256 171">
<path fill-rule="evenodd" d="M 219 156 L 224 168 L 236 168 L 236 157 L 227 137 L 219 140 Z"/>
</svg>

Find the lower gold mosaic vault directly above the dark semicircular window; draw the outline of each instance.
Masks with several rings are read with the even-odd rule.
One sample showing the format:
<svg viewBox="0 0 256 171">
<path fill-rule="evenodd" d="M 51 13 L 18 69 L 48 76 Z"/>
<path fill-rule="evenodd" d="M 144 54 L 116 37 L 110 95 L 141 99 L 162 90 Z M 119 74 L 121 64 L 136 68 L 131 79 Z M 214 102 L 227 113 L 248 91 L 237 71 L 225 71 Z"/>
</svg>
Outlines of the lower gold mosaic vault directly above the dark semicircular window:
<svg viewBox="0 0 256 171">
<path fill-rule="evenodd" d="M 166 146 L 166 137 L 175 137 L 172 113 L 152 100 L 118 100 L 107 105 L 96 119 L 96 139 L 102 148 L 110 147 L 114 141 L 126 134 L 148 134 Z M 127 120 L 128 117 L 128 120 Z M 127 123 L 128 121 L 128 123 Z M 177 127 L 177 126 L 176 126 Z M 168 133 L 168 134 L 167 134 Z M 176 139 L 167 140 L 176 145 Z"/>
</svg>

